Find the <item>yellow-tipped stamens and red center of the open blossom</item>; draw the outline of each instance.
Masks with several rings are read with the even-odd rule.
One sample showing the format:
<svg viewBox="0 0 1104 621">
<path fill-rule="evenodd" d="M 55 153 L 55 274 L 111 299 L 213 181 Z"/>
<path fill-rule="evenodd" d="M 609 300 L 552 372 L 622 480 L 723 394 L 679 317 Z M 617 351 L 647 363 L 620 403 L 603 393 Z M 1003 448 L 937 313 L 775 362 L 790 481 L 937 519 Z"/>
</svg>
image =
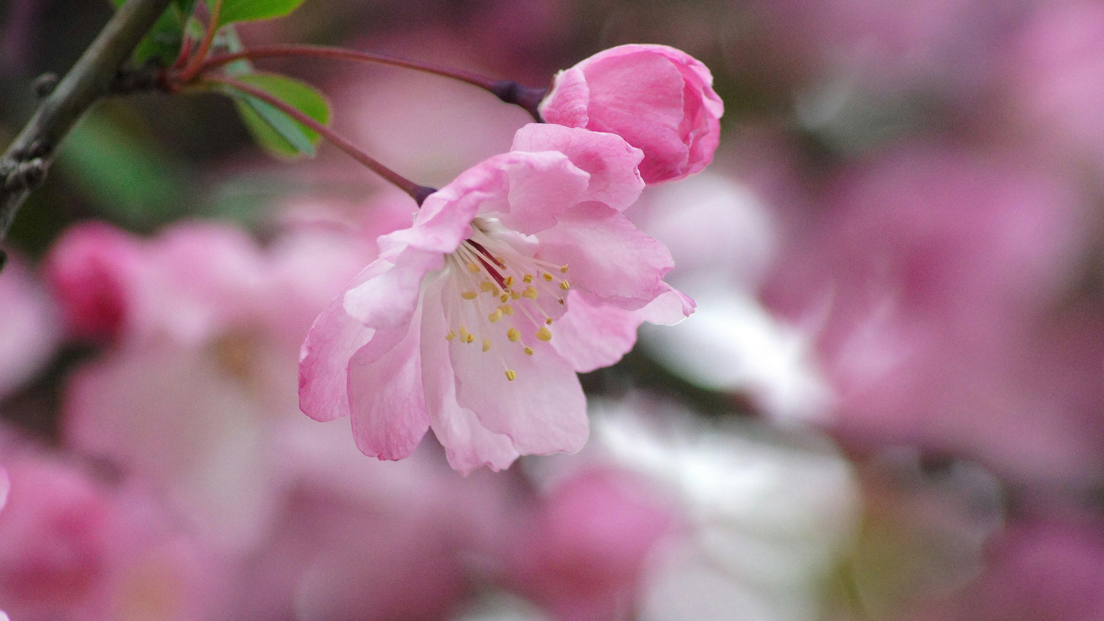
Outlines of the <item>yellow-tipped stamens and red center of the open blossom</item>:
<svg viewBox="0 0 1104 621">
<path fill-rule="evenodd" d="M 471 236 L 445 257 L 445 339 L 493 351 L 506 379 L 513 381 L 517 372 L 499 348 L 518 347 L 533 356 L 526 340 L 552 339 L 549 326 L 566 312 L 567 266 L 537 259 L 535 243 L 495 219 L 477 218 L 471 230 Z"/>
</svg>

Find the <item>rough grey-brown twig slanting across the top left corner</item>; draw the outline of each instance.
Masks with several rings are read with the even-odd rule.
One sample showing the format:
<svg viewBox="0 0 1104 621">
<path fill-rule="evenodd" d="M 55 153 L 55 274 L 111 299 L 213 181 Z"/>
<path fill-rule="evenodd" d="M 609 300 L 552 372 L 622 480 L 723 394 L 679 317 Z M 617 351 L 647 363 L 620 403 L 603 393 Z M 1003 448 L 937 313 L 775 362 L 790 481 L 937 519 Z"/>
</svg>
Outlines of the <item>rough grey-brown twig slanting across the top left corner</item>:
<svg viewBox="0 0 1104 621">
<path fill-rule="evenodd" d="M 109 92 L 119 67 L 169 2 L 128 0 L 120 7 L 8 147 L 0 158 L 0 175 L 3 175 L 0 241 L 31 190 L 44 179 L 57 145 L 84 113 Z"/>
</svg>

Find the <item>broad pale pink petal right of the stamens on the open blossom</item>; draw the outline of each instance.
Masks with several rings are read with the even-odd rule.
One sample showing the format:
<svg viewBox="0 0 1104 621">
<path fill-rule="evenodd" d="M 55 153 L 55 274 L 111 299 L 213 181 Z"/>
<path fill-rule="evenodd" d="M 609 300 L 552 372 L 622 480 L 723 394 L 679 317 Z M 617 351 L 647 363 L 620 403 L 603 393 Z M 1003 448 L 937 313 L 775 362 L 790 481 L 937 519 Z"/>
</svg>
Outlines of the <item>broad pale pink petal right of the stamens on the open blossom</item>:
<svg viewBox="0 0 1104 621">
<path fill-rule="evenodd" d="M 537 236 L 538 256 L 567 265 L 572 286 L 629 310 L 664 293 L 664 274 L 675 266 L 664 244 L 598 202 L 575 206 Z"/>
</svg>

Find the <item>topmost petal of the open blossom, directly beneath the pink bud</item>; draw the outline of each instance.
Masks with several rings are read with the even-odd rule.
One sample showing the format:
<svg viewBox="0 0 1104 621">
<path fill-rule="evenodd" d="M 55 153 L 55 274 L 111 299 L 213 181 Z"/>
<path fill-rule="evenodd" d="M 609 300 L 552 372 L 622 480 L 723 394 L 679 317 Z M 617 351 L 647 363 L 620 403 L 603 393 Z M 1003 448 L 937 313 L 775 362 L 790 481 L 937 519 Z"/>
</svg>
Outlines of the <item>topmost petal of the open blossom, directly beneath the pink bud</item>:
<svg viewBox="0 0 1104 621">
<path fill-rule="evenodd" d="M 518 129 L 511 148 L 566 155 L 572 164 L 591 175 L 586 193 L 580 201 L 596 200 L 624 211 L 644 190 L 644 179 L 637 170 L 644 151 L 629 146 L 616 134 L 531 123 Z"/>
</svg>

